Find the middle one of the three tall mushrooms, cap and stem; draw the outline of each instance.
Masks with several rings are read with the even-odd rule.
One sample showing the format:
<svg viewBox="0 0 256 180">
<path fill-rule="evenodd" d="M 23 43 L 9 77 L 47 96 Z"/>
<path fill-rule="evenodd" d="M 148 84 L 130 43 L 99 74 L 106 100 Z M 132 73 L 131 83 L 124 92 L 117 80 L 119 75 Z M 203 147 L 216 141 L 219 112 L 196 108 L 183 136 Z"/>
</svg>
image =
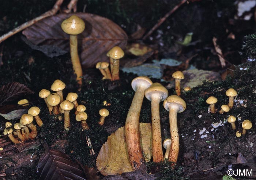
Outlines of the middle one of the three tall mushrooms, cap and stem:
<svg viewBox="0 0 256 180">
<path fill-rule="evenodd" d="M 163 150 L 159 103 L 168 97 L 168 90 L 160 83 L 156 82 L 145 90 L 145 97 L 151 101 L 153 161 L 160 163 L 163 161 Z"/>
</svg>

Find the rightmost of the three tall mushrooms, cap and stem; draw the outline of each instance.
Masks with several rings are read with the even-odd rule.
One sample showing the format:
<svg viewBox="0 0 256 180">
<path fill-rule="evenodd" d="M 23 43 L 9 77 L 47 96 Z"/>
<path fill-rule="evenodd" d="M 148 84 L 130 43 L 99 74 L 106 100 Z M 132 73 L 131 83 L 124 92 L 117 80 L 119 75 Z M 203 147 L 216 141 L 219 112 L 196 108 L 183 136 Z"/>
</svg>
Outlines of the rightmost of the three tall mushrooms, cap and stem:
<svg viewBox="0 0 256 180">
<path fill-rule="evenodd" d="M 179 134 L 177 126 L 177 113 L 181 113 L 186 109 L 186 103 L 177 95 L 170 95 L 163 101 L 163 106 L 169 111 L 171 147 L 169 153 L 169 161 L 177 163 L 179 153 Z"/>
</svg>

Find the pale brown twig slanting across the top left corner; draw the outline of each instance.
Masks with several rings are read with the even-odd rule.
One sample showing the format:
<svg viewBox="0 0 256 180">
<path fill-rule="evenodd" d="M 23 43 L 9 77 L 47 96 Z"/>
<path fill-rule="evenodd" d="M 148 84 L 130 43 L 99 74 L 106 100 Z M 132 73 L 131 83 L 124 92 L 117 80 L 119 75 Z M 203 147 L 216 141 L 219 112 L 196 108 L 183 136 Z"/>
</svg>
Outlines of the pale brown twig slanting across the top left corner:
<svg viewBox="0 0 256 180">
<path fill-rule="evenodd" d="M 27 21 L 26 23 L 16 27 L 15 29 L 9 31 L 7 34 L 4 34 L 0 37 L 0 43 L 3 42 L 5 39 L 10 38 L 12 35 L 24 30 L 25 28 L 37 23 L 39 20 L 42 20 L 46 17 L 52 16 L 58 12 L 60 9 L 60 5 L 63 3 L 63 0 L 57 0 L 57 2 L 54 4 L 53 8 L 50 11 L 47 11 L 43 13 L 42 15 Z"/>
</svg>

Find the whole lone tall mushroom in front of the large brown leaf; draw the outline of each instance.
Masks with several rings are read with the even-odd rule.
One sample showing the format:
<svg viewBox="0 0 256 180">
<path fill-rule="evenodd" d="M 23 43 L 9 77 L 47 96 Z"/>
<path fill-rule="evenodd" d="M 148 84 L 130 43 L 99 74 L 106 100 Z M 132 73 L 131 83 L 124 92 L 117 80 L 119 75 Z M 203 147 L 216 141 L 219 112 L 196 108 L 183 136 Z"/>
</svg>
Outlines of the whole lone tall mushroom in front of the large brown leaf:
<svg viewBox="0 0 256 180">
<path fill-rule="evenodd" d="M 82 66 L 79 60 L 79 55 L 78 55 L 77 35 L 84 31 L 84 28 L 85 28 L 84 21 L 80 17 L 76 15 L 72 15 L 61 23 L 61 28 L 65 33 L 70 35 L 69 40 L 70 40 L 71 62 L 73 64 L 73 70 L 75 71 L 75 74 L 76 74 L 76 81 L 78 81 L 78 84 L 81 86 L 82 85 L 81 77 L 83 76 L 83 71 L 82 71 Z"/>
</svg>

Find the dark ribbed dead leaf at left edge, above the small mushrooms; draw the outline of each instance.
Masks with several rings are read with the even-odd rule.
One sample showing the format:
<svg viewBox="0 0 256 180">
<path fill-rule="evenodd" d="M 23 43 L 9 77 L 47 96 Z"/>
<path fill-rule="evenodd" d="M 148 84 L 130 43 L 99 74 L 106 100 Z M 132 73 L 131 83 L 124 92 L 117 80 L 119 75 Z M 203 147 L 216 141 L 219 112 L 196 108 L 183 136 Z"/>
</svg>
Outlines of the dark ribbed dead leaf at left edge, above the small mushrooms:
<svg viewBox="0 0 256 180">
<path fill-rule="evenodd" d="M 0 88 L 0 106 L 27 94 L 34 94 L 34 92 L 21 83 L 8 83 Z"/>
</svg>

